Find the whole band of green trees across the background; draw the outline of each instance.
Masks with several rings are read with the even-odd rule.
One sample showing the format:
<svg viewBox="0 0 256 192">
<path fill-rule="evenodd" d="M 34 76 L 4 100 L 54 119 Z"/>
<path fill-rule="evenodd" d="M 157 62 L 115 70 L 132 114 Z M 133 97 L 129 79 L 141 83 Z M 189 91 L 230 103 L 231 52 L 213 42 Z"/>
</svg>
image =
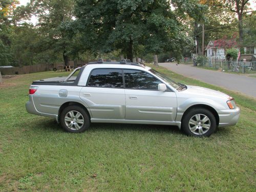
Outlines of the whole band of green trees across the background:
<svg viewBox="0 0 256 192">
<path fill-rule="evenodd" d="M 209 40 L 255 46 L 247 0 L 16 0 L 0 2 L 0 65 L 198 53 Z M 36 25 L 29 23 L 34 15 Z M 204 35 L 202 30 L 204 28 Z"/>
</svg>

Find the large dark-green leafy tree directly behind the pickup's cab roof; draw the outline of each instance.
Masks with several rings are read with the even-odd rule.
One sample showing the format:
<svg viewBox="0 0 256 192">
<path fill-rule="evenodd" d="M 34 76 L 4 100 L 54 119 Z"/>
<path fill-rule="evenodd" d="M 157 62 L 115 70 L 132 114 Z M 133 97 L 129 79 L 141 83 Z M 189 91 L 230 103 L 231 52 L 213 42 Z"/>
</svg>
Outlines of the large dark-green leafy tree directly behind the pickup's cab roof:
<svg viewBox="0 0 256 192">
<path fill-rule="evenodd" d="M 133 60 L 140 46 L 144 46 L 145 53 L 154 55 L 172 49 L 180 54 L 185 43 L 191 42 L 181 20 L 184 12 L 197 15 L 200 6 L 193 4 L 196 2 L 81 0 L 75 7 L 76 26 L 84 49 L 95 54 L 120 49 Z M 171 9 L 171 4 L 176 10 Z"/>
</svg>

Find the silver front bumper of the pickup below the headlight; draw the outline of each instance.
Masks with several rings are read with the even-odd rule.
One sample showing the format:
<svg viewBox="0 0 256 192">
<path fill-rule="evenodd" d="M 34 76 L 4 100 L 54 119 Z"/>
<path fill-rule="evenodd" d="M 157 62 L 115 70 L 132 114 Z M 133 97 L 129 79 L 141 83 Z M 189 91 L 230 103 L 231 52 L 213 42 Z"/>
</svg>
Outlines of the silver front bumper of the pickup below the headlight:
<svg viewBox="0 0 256 192">
<path fill-rule="evenodd" d="M 219 127 L 236 125 L 240 116 L 240 108 L 232 110 L 217 110 L 220 122 Z"/>
</svg>

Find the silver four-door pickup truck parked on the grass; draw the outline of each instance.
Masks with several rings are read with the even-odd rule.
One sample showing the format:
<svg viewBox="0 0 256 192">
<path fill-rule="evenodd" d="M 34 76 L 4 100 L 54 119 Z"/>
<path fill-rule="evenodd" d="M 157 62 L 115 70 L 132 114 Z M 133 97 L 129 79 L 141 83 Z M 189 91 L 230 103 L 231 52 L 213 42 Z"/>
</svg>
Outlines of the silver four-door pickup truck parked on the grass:
<svg viewBox="0 0 256 192">
<path fill-rule="evenodd" d="M 86 131 L 91 122 L 142 123 L 176 125 L 196 137 L 235 125 L 240 115 L 224 93 L 177 83 L 125 60 L 91 62 L 68 77 L 33 81 L 26 109 L 56 118 L 72 133 Z"/>
</svg>

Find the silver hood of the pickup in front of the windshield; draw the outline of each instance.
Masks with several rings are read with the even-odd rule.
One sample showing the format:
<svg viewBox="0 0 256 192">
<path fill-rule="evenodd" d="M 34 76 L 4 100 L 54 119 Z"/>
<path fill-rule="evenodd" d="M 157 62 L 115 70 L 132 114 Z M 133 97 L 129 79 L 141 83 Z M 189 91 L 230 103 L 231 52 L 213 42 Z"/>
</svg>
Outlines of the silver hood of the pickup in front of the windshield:
<svg viewBox="0 0 256 192">
<path fill-rule="evenodd" d="M 202 88 L 199 86 L 187 86 L 187 90 L 184 91 L 186 94 L 191 94 L 194 96 L 202 96 L 202 97 L 215 97 L 215 98 L 223 98 L 225 100 L 228 99 L 228 95 L 225 93 L 222 93 L 220 91 L 208 89 L 208 88 Z"/>
</svg>

